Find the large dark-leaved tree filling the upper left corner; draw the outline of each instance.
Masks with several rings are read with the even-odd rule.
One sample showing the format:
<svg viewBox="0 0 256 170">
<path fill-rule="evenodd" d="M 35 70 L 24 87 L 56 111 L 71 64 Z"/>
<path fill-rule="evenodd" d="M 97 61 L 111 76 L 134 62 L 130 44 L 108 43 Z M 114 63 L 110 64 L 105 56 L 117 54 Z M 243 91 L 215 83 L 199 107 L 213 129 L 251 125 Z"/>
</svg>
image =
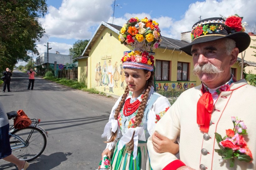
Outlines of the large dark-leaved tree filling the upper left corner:
<svg viewBox="0 0 256 170">
<path fill-rule="evenodd" d="M 17 60 L 38 55 L 36 41 L 44 35 L 38 19 L 47 12 L 46 0 L 0 0 L 0 69 L 13 68 Z"/>
</svg>

